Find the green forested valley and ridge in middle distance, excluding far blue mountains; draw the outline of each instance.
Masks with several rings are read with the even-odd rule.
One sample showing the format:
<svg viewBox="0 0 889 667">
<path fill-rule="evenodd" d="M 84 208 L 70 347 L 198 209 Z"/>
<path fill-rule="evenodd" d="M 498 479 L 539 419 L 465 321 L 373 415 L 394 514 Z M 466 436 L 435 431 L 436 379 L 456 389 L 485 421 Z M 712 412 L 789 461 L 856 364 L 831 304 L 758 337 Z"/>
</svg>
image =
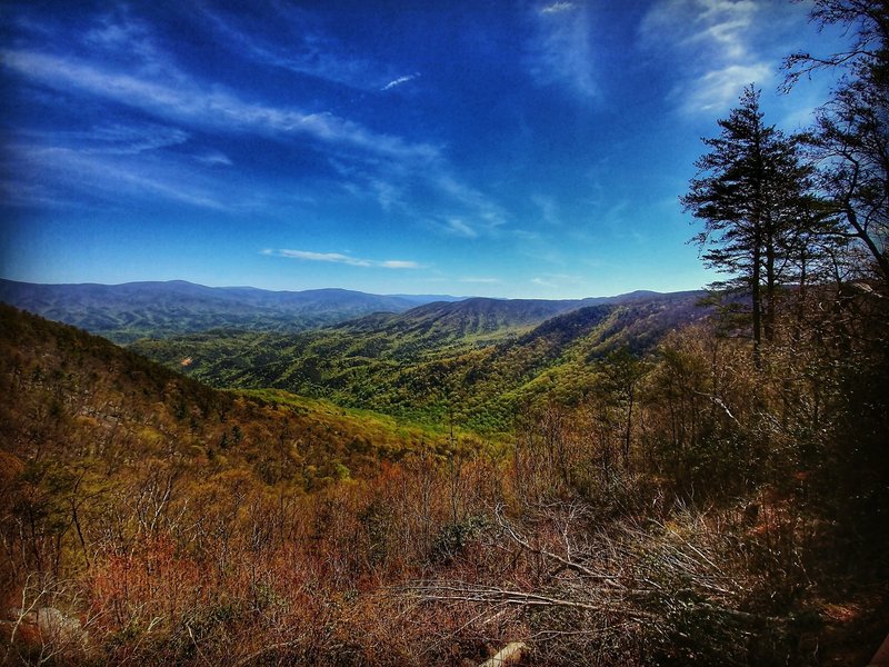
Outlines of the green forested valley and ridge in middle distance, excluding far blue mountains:
<svg viewBox="0 0 889 667">
<path fill-rule="evenodd" d="M 645 356 L 670 330 L 706 317 L 703 296 L 633 295 L 597 306 L 469 299 L 296 336 L 207 332 L 132 349 L 217 387 L 274 387 L 505 432 L 519 406 L 581 401 L 609 352 Z"/>
</svg>

